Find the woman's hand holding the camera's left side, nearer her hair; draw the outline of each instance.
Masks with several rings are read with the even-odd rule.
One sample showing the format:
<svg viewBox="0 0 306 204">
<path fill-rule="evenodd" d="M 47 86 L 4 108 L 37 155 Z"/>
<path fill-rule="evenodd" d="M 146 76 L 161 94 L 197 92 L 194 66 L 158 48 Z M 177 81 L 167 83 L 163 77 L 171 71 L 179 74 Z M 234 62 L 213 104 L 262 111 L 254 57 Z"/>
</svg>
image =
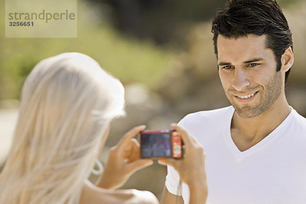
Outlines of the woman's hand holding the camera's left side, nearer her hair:
<svg viewBox="0 0 306 204">
<path fill-rule="evenodd" d="M 153 164 L 151 159 L 140 159 L 140 145 L 134 138 L 144 129 L 145 125 L 134 127 L 110 149 L 107 164 L 97 186 L 105 189 L 120 188 L 133 173 Z"/>
</svg>

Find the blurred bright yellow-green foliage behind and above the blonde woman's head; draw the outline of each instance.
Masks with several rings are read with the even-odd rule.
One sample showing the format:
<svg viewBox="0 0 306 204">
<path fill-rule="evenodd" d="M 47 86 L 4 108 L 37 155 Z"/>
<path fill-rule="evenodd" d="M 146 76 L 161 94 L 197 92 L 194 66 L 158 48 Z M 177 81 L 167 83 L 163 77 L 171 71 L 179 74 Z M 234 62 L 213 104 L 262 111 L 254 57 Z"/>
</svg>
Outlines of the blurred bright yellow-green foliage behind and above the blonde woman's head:
<svg viewBox="0 0 306 204">
<path fill-rule="evenodd" d="M 35 64 L 63 52 L 91 56 L 122 83 L 151 87 L 159 81 L 169 67 L 172 52 L 150 40 L 124 36 L 107 22 L 90 22 L 91 7 L 79 5 L 78 38 L 4 38 L 1 34 L 0 99 L 18 99 L 22 83 Z M 0 23 L 3 26 L 4 20 Z"/>
</svg>

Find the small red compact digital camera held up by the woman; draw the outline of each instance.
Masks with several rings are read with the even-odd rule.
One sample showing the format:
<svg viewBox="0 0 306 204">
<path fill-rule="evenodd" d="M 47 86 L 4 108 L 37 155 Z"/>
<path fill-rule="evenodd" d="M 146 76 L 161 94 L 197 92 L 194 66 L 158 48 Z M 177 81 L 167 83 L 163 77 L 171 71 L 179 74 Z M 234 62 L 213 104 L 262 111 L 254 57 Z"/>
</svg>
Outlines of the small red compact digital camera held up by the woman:
<svg viewBox="0 0 306 204">
<path fill-rule="evenodd" d="M 139 136 L 141 158 L 183 158 L 183 141 L 174 130 L 142 131 Z"/>
</svg>

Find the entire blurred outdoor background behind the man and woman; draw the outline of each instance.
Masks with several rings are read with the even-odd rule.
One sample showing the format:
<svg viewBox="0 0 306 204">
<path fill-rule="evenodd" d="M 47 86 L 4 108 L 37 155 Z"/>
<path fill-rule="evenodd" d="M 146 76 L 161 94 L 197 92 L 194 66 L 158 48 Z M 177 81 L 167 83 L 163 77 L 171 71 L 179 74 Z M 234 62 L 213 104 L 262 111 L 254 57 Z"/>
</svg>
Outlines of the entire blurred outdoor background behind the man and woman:
<svg viewBox="0 0 306 204">
<path fill-rule="evenodd" d="M 7 0 L 8 1 L 8 0 Z M 1 16 L 5 15 L 5 1 Z M 278 0 L 293 32 L 295 62 L 286 94 L 306 116 L 306 1 Z M 79 0 L 77 38 L 5 38 L 0 18 L 0 171 L 10 147 L 23 81 L 40 60 L 63 52 L 91 56 L 126 89 L 126 117 L 112 123 L 100 160 L 135 125 L 167 129 L 186 114 L 228 106 L 213 53 L 211 20 L 224 0 Z M 55 31 L 56 32 L 56 31 Z M 166 167 L 138 171 L 123 186 L 159 199 Z M 94 182 L 97 179 L 91 176 Z"/>
</svg>

